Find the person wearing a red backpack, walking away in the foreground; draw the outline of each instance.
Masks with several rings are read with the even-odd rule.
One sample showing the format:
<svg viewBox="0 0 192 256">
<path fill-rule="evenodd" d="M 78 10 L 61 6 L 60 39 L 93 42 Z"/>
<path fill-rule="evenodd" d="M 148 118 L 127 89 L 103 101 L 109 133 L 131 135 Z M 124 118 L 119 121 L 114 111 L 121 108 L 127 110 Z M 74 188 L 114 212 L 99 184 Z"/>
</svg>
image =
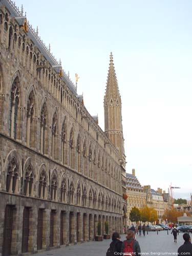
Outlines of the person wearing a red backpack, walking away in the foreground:
<svg viewBox="0 0 192 256">
<path fill-rule="evenodd" d="M 132 230 L 127 232 L 126 240 L 123 241 L 121 246 L 121 252 L 126 253 L 127 255 L 141 255 L 139 243 L 135 240 L 135 233 Z"/>
</svg>

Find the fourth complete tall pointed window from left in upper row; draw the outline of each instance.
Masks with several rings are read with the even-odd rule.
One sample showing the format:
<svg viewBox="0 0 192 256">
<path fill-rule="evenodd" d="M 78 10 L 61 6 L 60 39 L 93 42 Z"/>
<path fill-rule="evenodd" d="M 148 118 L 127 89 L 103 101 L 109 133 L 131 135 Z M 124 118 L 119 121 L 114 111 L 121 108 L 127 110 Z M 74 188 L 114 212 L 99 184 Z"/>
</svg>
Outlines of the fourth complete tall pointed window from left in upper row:
<svg viewBox="0 0 192 256">
<path fill-rule="evenodd" d="M 56 112 L 52 120 L 52 158 L 58 160 L 58 118 Z"/>
</svg>

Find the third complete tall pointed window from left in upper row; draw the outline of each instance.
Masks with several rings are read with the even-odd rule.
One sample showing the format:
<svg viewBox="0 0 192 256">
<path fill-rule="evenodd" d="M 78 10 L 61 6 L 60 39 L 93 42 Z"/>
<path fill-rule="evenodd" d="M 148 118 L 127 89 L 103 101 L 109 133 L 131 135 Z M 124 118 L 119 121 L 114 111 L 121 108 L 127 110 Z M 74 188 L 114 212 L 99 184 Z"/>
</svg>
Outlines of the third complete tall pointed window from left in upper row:
<svg viewBox="0 0 192 256">
<path fill-rule="evenodd" d="M 40 113 L 40 151 L 42 154 L 47 153 L 47 135 L 48 135 L 48 114 L 47 105 L 44 103 Z"/>
</svg>

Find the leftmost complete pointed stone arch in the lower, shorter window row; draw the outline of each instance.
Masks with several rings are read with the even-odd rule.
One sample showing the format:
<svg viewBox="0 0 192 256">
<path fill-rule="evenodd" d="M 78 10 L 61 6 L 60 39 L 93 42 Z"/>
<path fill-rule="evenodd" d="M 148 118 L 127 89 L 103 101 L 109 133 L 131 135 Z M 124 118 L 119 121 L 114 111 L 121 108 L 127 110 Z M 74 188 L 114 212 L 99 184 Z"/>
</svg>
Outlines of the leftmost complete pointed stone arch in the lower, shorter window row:
<svg viewBox="0 0 192 256">
<path fill-rule="evenodd" d="M 12 150 L 5 160 L 5 190 L 17 194 L 20 190 L 19 178 L 21 177 L 22 163 L 16 150 Z"/>
</svg>

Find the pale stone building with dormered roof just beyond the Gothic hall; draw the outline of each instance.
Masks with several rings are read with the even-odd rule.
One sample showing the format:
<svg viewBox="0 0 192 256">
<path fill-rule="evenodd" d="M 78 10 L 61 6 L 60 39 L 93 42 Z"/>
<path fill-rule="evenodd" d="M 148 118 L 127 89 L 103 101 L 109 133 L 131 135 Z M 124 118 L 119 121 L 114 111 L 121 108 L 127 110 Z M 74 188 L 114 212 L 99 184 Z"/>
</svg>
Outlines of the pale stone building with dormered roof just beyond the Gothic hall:
<svg viewBox="0 0 192 256">
<path fill-rule="evenodd" d="M 132 174 L 126 173 L 126 195 L 127 197 L 127 225 L 132 222 L 129 219 L 130 211 L 133 207 L 142 208 L 146 205 L 146 193 L 135 175 L 135 169 Z"/>
</svg>

